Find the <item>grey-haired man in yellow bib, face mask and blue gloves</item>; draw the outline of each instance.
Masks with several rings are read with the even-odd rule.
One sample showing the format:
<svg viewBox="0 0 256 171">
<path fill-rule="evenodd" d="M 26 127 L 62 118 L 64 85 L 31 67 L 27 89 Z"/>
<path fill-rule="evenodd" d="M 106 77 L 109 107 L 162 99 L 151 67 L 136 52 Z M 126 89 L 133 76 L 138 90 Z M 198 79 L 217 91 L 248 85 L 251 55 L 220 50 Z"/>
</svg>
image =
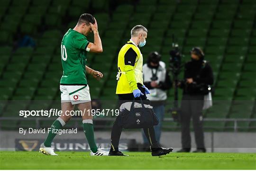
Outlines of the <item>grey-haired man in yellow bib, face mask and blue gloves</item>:
<svg viewBox="0 0 256 171">
<path fill-rule="evenodd" d="M 143 57 L 139 50 L 146 44 L 147 29 L 144 26 L 137 25 L 131 30 L 131 39 L 121 48 L 118 55 L 118 75 L 117 90 L 119 96 L 119 106 L 126 102 L 135 100 L 146 100 L 146 94 L 150 94 L 149 90 L 143 85 Z M 155 139 L 154 127 L 144 128 L 144 133 L 148 139 L 152 156 L 169 154 L 173 148 L 163 148 Z M 125 155 L 119 151 L 119 139 L 122 132 L 122 126 L 116 120 L 113 124 L 111 132 L 111 147 L 109 155 Z"/>
</svg>

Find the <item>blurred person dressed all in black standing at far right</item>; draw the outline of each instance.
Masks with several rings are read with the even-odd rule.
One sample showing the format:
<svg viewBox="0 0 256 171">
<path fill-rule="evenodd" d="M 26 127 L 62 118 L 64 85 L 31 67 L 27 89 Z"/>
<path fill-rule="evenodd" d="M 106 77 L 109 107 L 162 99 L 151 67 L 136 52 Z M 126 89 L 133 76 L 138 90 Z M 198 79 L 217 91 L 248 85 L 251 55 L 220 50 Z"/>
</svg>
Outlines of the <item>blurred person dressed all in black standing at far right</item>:
<svg viewBox="0 0 256 171">
<path fill-rule="evenodd" d="M 203 51 L 192 48 L 191 60 L 185 64 L 184 80 L 178 83 L 183 88 L 181 102 L 182 149 L 178 152 L 190 152 L 190 120 L 192 117 L 197 150 L 206 152 L 202 128 L 202 107 L 204 95 L 209 93 L 208 86 L 213 84 L 213 73 L 210 64 L 204 60 Z"/>
</svg>

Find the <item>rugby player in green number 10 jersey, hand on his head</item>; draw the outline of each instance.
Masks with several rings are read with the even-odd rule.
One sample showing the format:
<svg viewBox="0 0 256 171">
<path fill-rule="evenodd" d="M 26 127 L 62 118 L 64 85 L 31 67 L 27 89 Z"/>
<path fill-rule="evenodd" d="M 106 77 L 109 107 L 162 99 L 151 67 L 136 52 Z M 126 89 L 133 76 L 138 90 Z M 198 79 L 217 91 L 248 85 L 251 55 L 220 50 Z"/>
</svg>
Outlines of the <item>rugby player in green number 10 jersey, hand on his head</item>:
<svg viewBox="0 0 256 171">
<path fill-rule="evenodd" d="M 87 41 L 86 36 L 93 32 L 94 43 Z M 102 73 L 86 66 L 87 52 L 101 53 L 102 44 L 98 32 L 96 19 L 91 14 L 82 14 L 77 25 L 69 29 L 61 42 L 61 61 L 63 76 L 60 80 L 62 115 L 51 126 L 48 136 L 39 149 L 40 153 L 47 155 L 55 154 L 51 148 L 52 141 L 56 136 L 56 129 L 62 129 L 72 118 L 70 111 L 77 105 L 82 111 L 82 124 L 85 136 L 91 148 L 91 155 L 108 155 L 108 152 L 98 148 L 94 140 L 91 111 L 91 96 L 87 84 L 86 73 L 96 79 L 103 77 Z"/>
</svg>

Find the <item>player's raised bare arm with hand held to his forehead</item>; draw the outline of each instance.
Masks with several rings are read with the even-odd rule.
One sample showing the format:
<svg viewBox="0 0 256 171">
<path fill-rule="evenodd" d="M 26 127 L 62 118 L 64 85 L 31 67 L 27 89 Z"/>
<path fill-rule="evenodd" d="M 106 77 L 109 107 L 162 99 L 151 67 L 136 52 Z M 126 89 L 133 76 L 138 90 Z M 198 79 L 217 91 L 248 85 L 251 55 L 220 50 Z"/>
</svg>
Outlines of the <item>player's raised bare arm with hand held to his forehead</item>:
<svg viewBox="0 0 256 171">
<path fill-rule="evenodd" d="M 98 32 L 97 21 L 95 18 L 94 18 L 94 20 L 95 20 L 94 25 L 90 23 L 91 30 L 94 34 L 94 43 L 89 43 L 86 48 L 86 51 L 90 51 L 90 52 L 94 52 L 94 53 L 101 53 L 103 51 L 102 44 L 101 44 L 101 37 Z"/>
</svg>

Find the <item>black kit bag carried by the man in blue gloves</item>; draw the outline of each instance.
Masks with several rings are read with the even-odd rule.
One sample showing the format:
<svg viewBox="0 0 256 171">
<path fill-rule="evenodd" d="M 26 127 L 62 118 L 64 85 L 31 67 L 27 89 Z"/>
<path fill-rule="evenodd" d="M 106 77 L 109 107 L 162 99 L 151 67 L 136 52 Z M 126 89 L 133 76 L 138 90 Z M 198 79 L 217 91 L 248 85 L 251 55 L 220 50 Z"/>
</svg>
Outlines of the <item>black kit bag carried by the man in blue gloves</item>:
<svg viewBox="0 0 256 171">
<path fill-rule="evenodd" d="M 126 129 L 134 128 L 151 128 L 154 125 L 158 125 L 158 118 L 155 115 L 155 111 L 150 108 L 145 108 L 142 99 L 140 98 L 142 107 L 135 108 L 133 99 L 130 111 L 125 109 L 120 112 L 119 125 Z"/>
</svg>

